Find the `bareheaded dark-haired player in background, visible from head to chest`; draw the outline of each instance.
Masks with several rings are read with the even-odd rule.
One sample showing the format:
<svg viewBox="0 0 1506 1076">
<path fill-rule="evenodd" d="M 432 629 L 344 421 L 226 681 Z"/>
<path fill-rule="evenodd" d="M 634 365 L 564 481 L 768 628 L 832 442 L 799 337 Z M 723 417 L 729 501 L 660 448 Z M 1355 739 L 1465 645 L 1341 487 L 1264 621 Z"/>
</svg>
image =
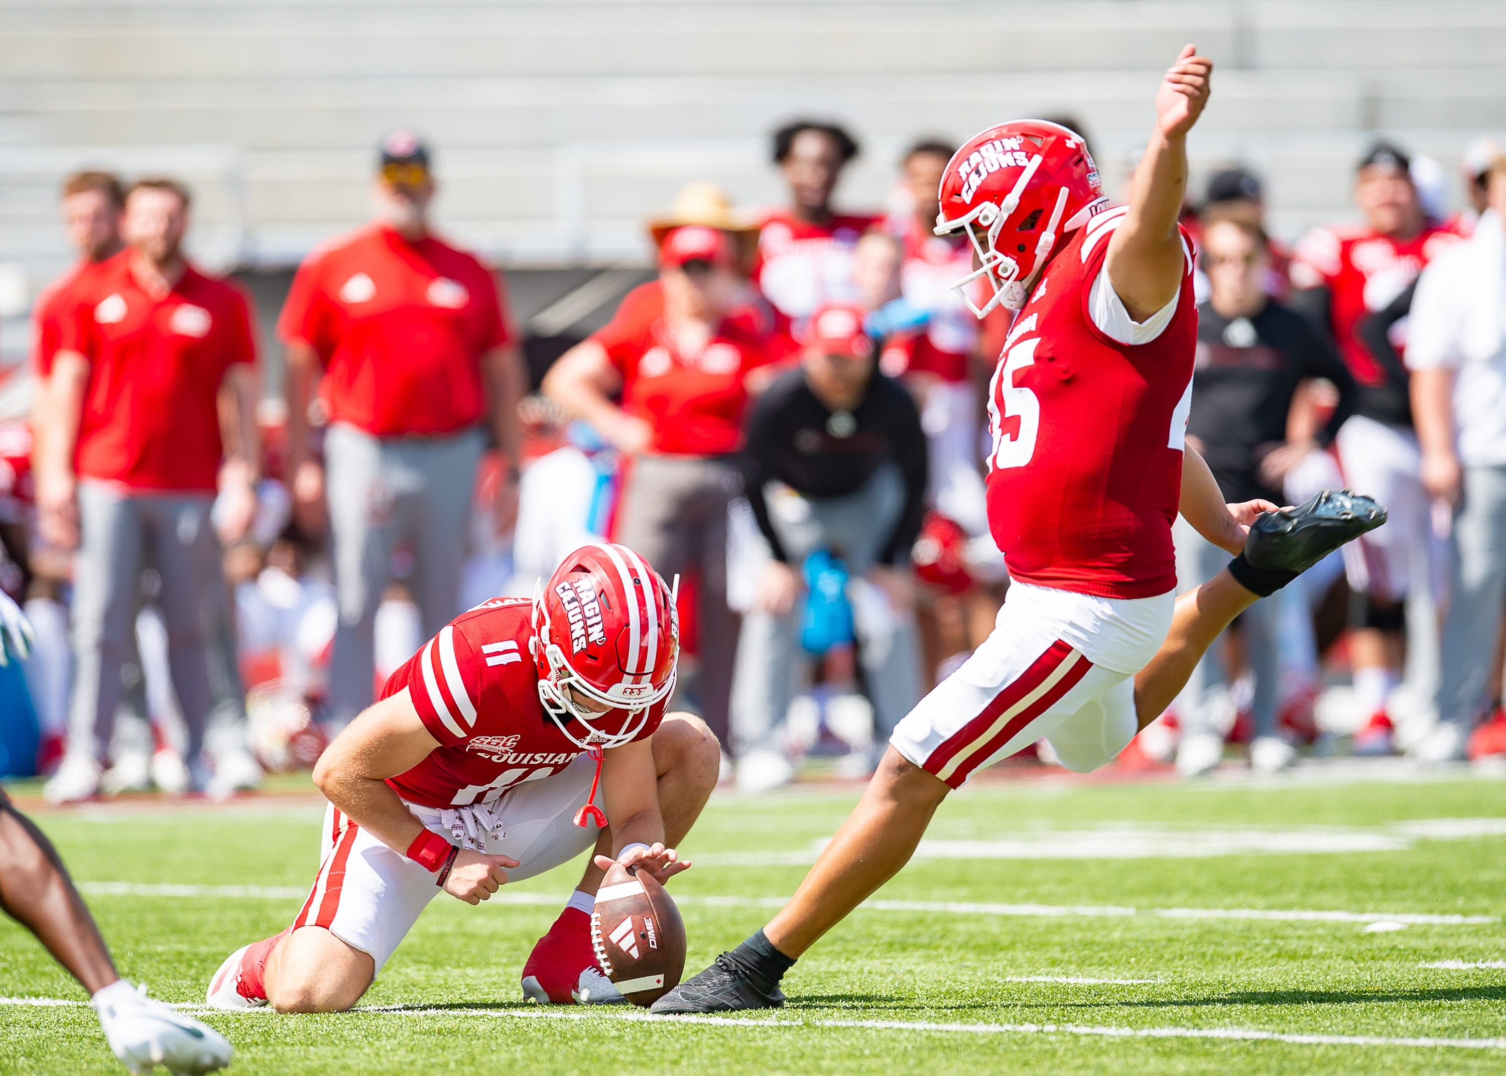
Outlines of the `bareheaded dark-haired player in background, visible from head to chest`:
<svg viewBox="0 0 1506 1076">
<path fill-rule="evenodd" d="M 774 164 L 789 185 L 789 205 L 761 219 L 753 279 L 780 332 L 822 303 L 857 297 L 852 252 L 880 217 L 833 206 L 842 172 L 857 155 L 857 140 L 837 124 L 798 119 L 774 131 Z"/>
</svg>

